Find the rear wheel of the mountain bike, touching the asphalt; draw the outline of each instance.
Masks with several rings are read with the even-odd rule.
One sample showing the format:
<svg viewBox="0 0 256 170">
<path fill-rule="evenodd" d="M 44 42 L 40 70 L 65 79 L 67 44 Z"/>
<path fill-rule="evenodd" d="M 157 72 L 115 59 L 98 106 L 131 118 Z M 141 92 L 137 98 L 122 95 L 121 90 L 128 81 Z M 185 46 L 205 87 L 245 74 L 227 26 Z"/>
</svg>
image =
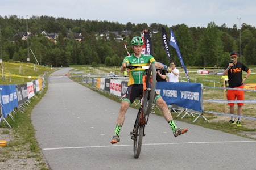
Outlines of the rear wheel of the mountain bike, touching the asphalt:
<svg viewBox="0 0 256 170">
<path fill-rule="evenodd" d="M 133 155 L 134 158 L 139 158 L 139 155 L 141 154 L 141 146 L 142 146 L 142 138 L 144 133 L 144 126 L 141 125 L 140 122 L 141 118 L 141 112 L 139 111 L 137 114 L 137 118 L 134 124 L 134 141 L 133 141 Z"/>
</svg>

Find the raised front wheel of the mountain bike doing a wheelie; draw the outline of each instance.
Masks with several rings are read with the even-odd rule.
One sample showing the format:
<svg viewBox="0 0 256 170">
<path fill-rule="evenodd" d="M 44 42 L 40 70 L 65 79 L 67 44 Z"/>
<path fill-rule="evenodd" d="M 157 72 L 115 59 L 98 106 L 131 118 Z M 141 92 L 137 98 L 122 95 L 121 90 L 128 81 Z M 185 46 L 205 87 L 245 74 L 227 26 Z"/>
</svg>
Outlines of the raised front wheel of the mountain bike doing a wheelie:
<svg viewBox="0 0 256 170">
<path fill-rule="evenodd" d="M 155 86 L 156 86 L 156 67 L 154 64 L 152 64 L 147 70 L 146 90 L 143 92 L 143 114 L 148 115 L 151 112 L 151 108 L 155 99 Z M 148 96 L 150 96 L 149 100 L 148 100 Z"/>
</svg>

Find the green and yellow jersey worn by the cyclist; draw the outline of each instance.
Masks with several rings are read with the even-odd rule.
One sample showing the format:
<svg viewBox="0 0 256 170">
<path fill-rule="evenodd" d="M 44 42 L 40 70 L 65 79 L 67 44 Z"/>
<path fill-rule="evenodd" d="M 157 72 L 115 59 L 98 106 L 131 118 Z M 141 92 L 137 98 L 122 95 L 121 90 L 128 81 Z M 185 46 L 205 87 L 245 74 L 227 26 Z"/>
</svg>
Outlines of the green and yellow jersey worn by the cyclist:
<svg viewBox="0 0 256 170">
<path fill-rule="evenodd" d="M 127 62 L 130 66 L 150 66 L 150 63 L 154 64 L 155 58 L 151 55 L 141 54 L 141 57 L 137 58 L 132 54 L 131 56 L 126 56 L 123 59 L 123 62 Z M 128 86 L 132 84 L 142 84 L 142 76 L 144 74 L 145 69 L 135 68 L 133 70 L 129 69 L 129 82 Z"/>
</svg>

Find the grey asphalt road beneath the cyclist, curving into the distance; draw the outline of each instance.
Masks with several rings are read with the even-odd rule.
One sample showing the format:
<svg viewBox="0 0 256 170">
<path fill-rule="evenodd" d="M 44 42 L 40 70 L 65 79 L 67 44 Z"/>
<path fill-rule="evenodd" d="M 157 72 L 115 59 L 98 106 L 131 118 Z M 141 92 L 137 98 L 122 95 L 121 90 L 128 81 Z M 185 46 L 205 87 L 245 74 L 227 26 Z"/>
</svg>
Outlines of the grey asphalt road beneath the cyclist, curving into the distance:
<svg viewBox="0 0 256 170">
<path fill-rule="evenodd" d="M 62 76 L 68 70 L 49 76 L 31 116 L 51 169 L 256 169 L 255 140 L 179 121 L 189 130 L 175 138 L 164 118 L 153 114 L 135 159 L 130 131 L 137 110 L 129 108 L 121 141 L 110 144 L 119 103 Z"/>
</svg>

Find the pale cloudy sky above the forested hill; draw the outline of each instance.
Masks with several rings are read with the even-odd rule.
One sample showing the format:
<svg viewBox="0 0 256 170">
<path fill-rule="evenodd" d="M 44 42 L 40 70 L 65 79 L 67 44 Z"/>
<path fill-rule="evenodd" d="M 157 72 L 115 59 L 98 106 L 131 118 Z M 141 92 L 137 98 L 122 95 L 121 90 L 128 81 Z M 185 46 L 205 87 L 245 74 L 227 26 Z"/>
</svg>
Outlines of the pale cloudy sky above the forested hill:
<svg viewBox="0 0 256 170">
<path fill-rule="evenodd" d="M 1 0 L 0 16 L 52 16 L 127 24 L 152 23 L 172 27 L 207 27 L 243 23 L 256 27 L 255 0 Z M 238 19 L 241 18 L 241 19 Z"/>
</svg>

